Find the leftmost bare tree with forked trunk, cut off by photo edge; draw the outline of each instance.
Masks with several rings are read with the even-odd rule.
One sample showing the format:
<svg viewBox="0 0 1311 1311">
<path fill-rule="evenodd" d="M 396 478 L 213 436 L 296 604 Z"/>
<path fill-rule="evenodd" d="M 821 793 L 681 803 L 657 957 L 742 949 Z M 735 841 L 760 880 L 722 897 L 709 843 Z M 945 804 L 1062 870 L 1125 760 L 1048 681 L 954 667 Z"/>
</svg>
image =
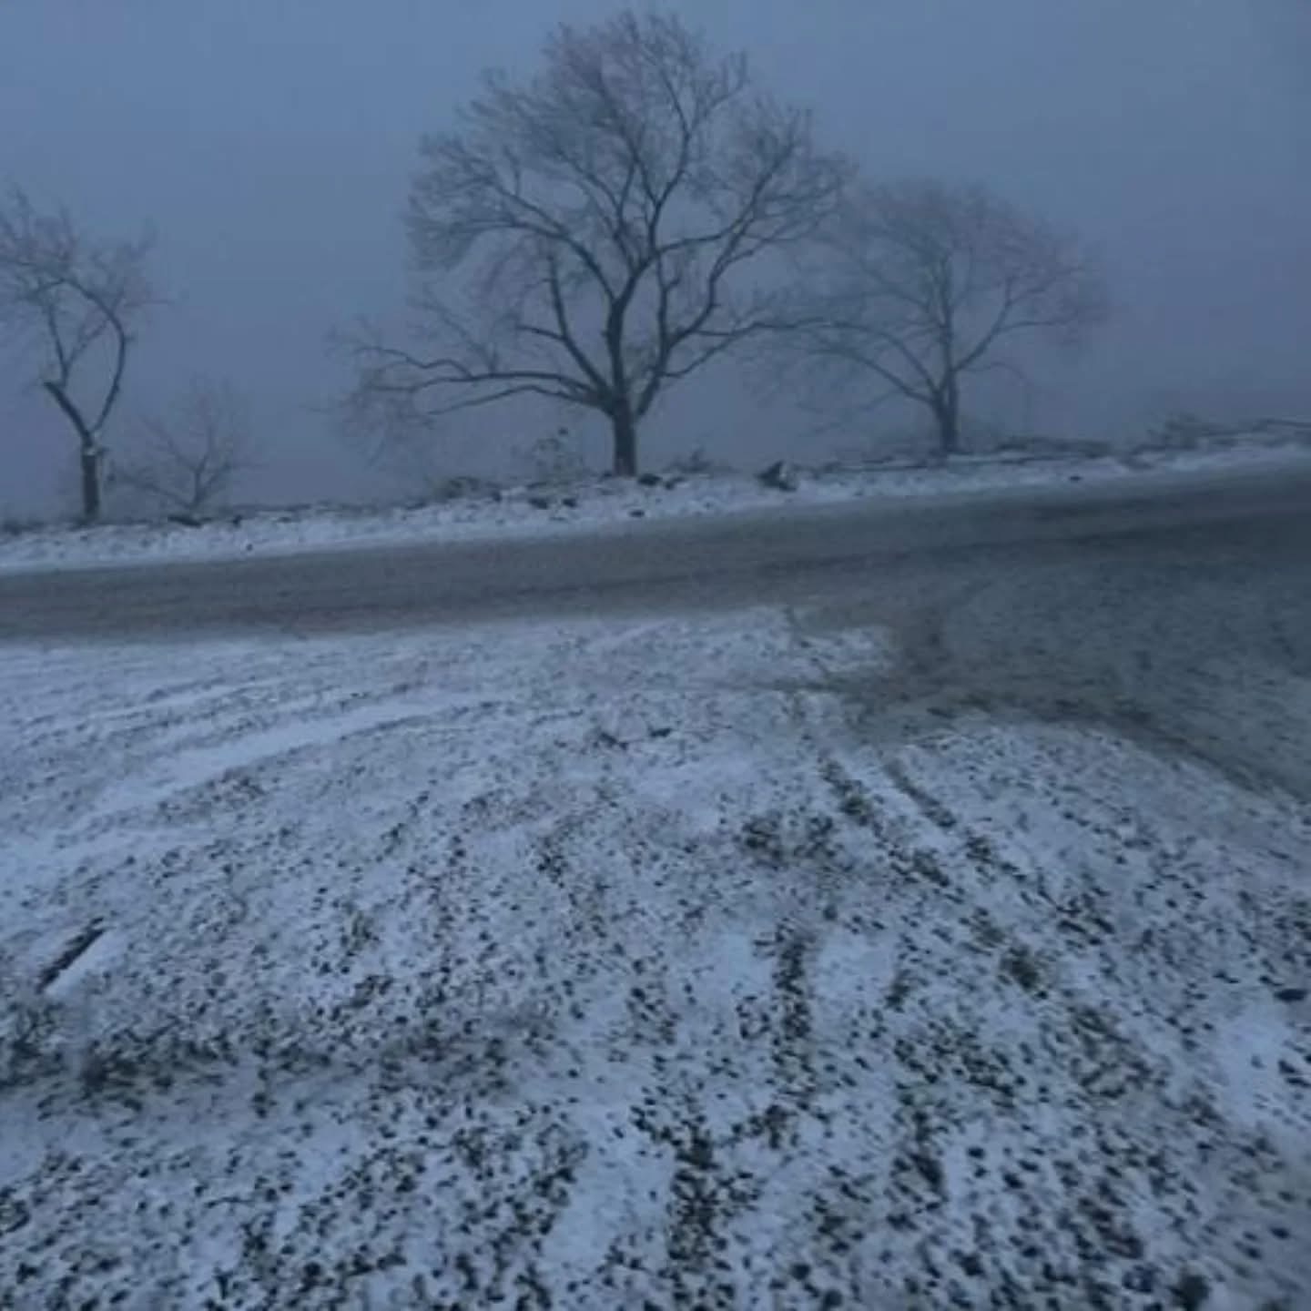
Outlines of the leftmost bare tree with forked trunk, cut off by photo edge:
<svg viewBox="0 0 1311 1311">
<path fill-rule="evenodd" d="M 151 304 L 151 239 L 97 243 L 20 190 L 0 205 L 0 324 L 39 341 L 41 385 L 77 438 L 81 507 L 102 503 L 104 433 L 122 395 L 132 324 Z"/>
</svg>

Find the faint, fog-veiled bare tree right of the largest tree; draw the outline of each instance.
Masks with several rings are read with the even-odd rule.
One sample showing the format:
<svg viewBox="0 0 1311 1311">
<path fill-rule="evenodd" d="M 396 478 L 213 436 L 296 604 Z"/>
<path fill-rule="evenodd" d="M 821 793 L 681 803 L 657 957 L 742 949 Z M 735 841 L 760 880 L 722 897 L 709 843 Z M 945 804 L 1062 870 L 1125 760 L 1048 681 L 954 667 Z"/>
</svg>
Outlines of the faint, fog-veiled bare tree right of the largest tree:
<svg viewBox="0 0 1311 1311">
<path fill-rule="evenodd" d="M 924 406 L 943 455 L 961 446 L 966 378 L 1020 374 L 1017 338 L 1072 343 L 1106 312 L 1079 243 L 982 187 L 932 181 L 852 194 L 815 286 L 796 338 L 806 364 Z"/>
</svg>

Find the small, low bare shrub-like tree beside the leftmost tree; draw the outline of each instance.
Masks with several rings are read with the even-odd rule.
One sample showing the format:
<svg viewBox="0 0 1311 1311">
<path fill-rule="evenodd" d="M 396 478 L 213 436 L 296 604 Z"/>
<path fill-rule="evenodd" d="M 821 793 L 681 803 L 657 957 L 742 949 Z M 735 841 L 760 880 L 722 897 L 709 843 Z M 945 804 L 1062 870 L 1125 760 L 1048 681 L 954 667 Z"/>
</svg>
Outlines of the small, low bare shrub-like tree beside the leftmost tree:
<svg viewBox="0 0 1311 1311">
<path fill-rule="evenodd" d="M 222 501 L 253 467 L 250 422 L 231 383 L 197 379 L 168 420 L 142 421 L 113 481 L 189 519 Z"/>
</svg>

